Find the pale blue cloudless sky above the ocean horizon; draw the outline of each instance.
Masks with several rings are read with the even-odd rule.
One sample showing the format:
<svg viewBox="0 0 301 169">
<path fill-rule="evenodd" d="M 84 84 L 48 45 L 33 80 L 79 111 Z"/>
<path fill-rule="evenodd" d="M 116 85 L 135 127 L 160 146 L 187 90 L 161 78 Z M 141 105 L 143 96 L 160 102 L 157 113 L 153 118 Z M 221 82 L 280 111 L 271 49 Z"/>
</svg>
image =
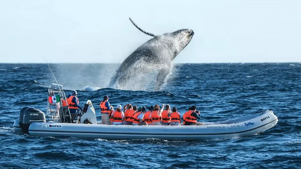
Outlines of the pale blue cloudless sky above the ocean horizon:
<svg viewBox="0 0 301 169">
<path fill-rule="evenodd" d="M 175 63 L 301 62 L 299 0 L 0 1 L 1 63 L 121 63 L 155 35 L 193 29 Z"/>
</svg>

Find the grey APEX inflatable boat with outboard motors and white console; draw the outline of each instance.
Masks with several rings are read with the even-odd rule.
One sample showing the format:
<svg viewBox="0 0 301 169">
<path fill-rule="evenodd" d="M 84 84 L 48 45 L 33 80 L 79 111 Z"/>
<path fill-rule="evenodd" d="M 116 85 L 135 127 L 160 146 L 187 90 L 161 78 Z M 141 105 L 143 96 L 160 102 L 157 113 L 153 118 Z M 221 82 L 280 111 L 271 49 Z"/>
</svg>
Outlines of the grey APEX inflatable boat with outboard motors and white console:
<svg viewBox="0 0 301 169">
<path fill-rule="evenodd" d="M 55 84 L 48 89 L 51 97 Z M 62 86 L 61 86 L 62 88 Z M 64 92 L 59 90 L 64 98 Z M 208 122 L 204 125 L 104 125 L 96 121 L 95 110 L 90 100 L 85 108 L 78 113 L 78 119 L 68 122 L 68 107 L 59 106 L 56 103 L 56 110 L 51 108 L 48 102 L 47 114 L 33 107 L 24 107 L 20 111 L 19 119 L 14 122 L 14 130 L 33 136 L 70 136 L 88 139 L 106 140 L 129 140 L 158 138 L 163 140 L 209 140 L 209 139 L 232 139 L 250 137 L 260 134 L 274 127 L 278 118 L 273 111 L 266 110 L 262 113 L 255 113 L 239 119 L 224 122 Z M 54 115 L 51 114 L 54 112 Z M 22 122 L 21 122 L 22 121 Z"/>
</svg>

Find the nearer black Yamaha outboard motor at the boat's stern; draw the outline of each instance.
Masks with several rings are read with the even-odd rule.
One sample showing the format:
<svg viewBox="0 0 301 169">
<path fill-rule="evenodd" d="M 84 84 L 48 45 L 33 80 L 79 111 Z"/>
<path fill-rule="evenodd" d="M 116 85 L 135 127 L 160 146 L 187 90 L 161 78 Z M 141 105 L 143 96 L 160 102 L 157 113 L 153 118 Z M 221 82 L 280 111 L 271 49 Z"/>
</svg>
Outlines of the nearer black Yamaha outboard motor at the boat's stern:
<svg viewBox="0 0 301 169">
<path fill-rule="evenodd" d="M 23 126 L 21 126 L 24 134 L 29 133 L 29 125 L 33 122 L 46 122 L 45 114 L 39 109 L 29 107 L 24 111 Z"/>
</svg>

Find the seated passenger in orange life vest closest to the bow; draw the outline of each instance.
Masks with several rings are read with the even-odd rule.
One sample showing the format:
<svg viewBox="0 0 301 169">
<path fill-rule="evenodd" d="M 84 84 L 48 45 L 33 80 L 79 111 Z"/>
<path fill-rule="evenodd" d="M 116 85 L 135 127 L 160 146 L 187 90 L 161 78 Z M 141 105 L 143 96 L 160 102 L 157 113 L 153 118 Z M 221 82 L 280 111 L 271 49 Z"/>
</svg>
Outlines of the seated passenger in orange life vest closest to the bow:
<svg viewBox="0 0 301 169">
<path fill-rule="evenodd" d="M 200 112 L 196 111 L 197 107 L 191 106 L 191 110 L 188 110 L 183 115 L 184 125 L 204 125 L 204 123 L 197 122 L 197 119 L 201 119 Z"/>
</svg>

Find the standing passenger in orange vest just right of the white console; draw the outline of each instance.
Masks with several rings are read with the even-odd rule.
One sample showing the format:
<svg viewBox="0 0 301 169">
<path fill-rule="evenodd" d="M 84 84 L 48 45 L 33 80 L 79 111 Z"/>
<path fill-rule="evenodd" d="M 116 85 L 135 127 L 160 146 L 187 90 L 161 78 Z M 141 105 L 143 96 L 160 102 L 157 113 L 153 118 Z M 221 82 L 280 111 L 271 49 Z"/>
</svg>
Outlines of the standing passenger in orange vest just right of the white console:
<svg viewBox="0 0 301 169">
<path fill-rule="evenodd" d="M 110 124 L 110 114 L 113 112 L 114 108 L 110 105 L 109 96 L 105 95 L 104 100 L 99 104 L 101 110 L 101 123 L 100 124 Z"/>
</svg>

